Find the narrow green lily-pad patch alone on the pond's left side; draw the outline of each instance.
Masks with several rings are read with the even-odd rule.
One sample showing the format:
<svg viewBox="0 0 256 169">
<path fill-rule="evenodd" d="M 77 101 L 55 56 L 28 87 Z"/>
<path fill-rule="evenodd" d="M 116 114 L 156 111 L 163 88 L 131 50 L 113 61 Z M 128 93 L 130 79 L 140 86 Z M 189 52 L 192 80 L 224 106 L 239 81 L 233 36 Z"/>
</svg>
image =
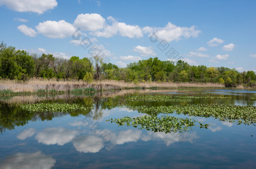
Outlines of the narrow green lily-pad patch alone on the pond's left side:
<svg viewBox="0 0 256 169">
<path fill-rule="evenodd" d="M 30 112 L 70 112 L 77 110 L 89 110 L 91 107 L 84 107 L 78 104 L 59 104 L 59 103 L 36 103 L 36 104 L 26 104 L 21 106 L 22 109 Z"/>
</svg>

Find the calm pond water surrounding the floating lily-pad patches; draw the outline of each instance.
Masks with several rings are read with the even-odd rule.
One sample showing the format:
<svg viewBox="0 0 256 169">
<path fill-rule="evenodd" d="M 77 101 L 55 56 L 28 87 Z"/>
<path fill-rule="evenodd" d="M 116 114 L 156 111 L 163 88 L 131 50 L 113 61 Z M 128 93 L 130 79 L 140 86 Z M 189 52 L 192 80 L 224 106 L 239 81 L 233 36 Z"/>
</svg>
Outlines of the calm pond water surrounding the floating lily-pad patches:
<svg viewBox="0 0 256 169">
<path fill-rule="evenodd" d="M 143 97 L 134 100 L 131 96 Z M 157 96 L 153 98 L 160 100 L 154 100 L 151 96 Z M 93 96 L 63 94 L 2 97 L 0 168 L 255 168 L 254 123 L 246 125 L 230 119 L 222 121 L 213 116 L 190 116 L 179 114 L 178 111 L 165 114 L 138 108 L 195 104 L 255 108 L 255 97 L 256 91 L 224 89 L 127 90 Z M 174 98 L 176 100 L 170 100 Z M 76 103 L 93 108 L 65 113 L 30 113 L 21 108 L 26 103 Z M 145 115 L 191 118 L 209 126 L 200 128 L 200 125 L 194 125 L 187 131 L 165 133 L 118 126 L 107 121 L 111 118 Z"/>
</svg>

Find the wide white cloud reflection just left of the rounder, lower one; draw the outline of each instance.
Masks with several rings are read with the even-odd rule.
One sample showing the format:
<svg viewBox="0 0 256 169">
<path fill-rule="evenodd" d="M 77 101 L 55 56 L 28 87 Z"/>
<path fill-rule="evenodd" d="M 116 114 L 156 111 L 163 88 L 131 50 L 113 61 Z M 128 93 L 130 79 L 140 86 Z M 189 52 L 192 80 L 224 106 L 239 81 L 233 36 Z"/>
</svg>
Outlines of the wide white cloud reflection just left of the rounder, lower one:
<svg viewBox="0 0 256 169">
<path fill-rule="evenodd" d="M 72 131 L 62 127 L 47 128 L 37 133 L 35 139 L 37 139 L 39 143 L 47 145 L 57 144 L 63 146 L 64 144 L 70 142 L 77 134 L 78 131 Z"/>
</svg>

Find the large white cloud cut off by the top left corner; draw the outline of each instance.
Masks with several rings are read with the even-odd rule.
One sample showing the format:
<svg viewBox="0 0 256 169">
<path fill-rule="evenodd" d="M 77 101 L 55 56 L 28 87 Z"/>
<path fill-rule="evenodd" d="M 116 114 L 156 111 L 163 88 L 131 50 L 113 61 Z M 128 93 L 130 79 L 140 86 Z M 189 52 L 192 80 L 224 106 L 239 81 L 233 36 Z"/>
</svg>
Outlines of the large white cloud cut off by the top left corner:
<svg viewBox="0 0 256 169">
<path fill-rule="evenodd" d="M 0 6 L 6 5 L 7 8 L 18 12 L 34 12 L 42 14 L 48 9 L 57 6 L 56 0 L 0 0 Z"/>
</svg>

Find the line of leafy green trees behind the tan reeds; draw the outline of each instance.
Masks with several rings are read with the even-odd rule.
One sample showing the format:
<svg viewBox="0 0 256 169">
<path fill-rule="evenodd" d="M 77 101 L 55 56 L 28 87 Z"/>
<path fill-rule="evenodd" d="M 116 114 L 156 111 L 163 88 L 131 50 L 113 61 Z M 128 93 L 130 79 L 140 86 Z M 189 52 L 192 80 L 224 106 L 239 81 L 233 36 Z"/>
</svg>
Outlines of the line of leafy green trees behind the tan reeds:
<svg viewBox="0 0 256 169">
<path fill-rule="evenodd" d="M 226 87 L 241 84 L 256 87 L 254 71 L 238 72 L 235 68 L 190 66 L 184 61 L 176 64 L 172 61 L 160 61 L 149 58 L 130 63 L 126 68 L 118 68 L 112 63 L 104 63 L 102 58 L 82 58 L 72 56 L 70 59 L 55 58 L 52 54 L 29 54 L 16 50 L 5 43 L 0 44 L 0 78 L 26 81 L 31 77 L 77 79 L 91 82 L 93 80 L 117 80 L 126 82 L 170 81 L 224 83 Z"/>
</svg>

